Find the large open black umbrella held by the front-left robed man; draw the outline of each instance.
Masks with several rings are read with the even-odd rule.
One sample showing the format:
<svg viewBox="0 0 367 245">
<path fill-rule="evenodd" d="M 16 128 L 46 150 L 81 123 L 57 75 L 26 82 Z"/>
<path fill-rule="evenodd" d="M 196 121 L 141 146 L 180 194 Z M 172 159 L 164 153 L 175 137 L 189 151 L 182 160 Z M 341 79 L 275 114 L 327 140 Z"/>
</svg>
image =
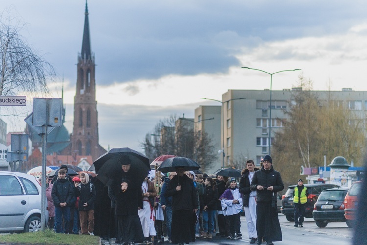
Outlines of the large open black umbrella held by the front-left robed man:
<svg viewBox="0 0 367 245">
<path fill-rule="evenodd" d="M 149 158 L 144 154 L 130 148 L 114 148 L 94 161 L 94 168 L 99 179 L 104 185 L 121 181 L 121 161 L 131 164 L 129 174 L 141 183 L 150 171 Z"/>
</svg>

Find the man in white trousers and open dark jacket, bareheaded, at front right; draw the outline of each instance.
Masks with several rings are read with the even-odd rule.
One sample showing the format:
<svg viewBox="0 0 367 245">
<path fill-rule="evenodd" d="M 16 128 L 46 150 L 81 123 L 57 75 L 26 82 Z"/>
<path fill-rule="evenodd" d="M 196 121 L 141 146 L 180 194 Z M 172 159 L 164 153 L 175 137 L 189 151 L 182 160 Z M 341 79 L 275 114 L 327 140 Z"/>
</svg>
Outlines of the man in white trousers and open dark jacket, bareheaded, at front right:
<svg viewBox="0 0 367 245">
<path fill-rule="evenodd" d="M 242 196 L 242 203 L 245 210 L 247 232 L 249 233 L 250 243 L 254 244 L 257 240 L 256 232 L 256 191 L 250 190 L 250 183 L 253 179 L 255 171 L 259 168 L 255 167 L 253 160 L 246 161 L 246 168 L 242 170 L 240 179 L 239 192 Z"/>
</svg>

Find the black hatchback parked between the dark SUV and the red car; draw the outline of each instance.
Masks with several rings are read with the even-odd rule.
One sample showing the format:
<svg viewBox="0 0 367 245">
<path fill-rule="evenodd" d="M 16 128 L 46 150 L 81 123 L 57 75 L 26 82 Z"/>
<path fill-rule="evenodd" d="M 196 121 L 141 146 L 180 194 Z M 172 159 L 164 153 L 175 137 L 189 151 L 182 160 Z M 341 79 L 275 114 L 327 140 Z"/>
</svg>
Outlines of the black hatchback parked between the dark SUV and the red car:
<svg viewBox="0 0 367 245">
<path fill-rule="evenodd" d="M 324 228 L 330 222 L 346 222 L 344 198 L 348 190 L 349 187 L 339 187 L 321 192 L 312 212 L 318 227 Z"/>
</svg>

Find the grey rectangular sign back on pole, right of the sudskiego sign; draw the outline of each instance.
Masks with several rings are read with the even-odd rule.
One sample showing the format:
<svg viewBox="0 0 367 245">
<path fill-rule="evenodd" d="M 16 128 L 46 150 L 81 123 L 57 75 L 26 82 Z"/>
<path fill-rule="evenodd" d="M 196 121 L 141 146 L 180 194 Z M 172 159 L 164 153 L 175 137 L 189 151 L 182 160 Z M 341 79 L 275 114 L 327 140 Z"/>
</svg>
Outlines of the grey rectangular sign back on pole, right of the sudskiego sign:
<svg viewBox="0 0 367 245">
<path fill-rule="evenodd" d="M 33 126 L 60 127 L 62 98 L 33 98 Z"/>
</svg>

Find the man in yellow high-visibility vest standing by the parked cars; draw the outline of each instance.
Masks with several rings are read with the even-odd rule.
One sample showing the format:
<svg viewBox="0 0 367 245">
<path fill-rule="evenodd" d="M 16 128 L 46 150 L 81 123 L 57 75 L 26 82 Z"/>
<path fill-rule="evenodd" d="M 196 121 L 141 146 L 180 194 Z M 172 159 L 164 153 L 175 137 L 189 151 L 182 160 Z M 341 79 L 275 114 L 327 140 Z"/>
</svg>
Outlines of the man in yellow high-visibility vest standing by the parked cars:
<svg viewBox="0 0 367 245">
<path fill-rule="evenodd" d="M 306 210 L 308 191 L 303 185 L 303 180 L 299 179 L 297 186 L 293 189 L 294 219 L 295 227 L 303 227 L 304 212 Z"/>
</svg>

